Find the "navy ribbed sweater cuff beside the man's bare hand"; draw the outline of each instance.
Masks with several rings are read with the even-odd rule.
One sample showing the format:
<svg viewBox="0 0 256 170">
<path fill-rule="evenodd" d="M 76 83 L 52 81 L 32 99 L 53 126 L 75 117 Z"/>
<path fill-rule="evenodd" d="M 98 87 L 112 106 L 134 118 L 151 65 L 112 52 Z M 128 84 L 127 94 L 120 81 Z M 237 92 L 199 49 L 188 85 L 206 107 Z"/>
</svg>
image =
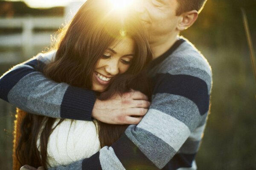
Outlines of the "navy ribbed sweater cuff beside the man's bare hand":
<svg viewBox="0 0 256 170">
<path fill-rule="evenodd" d="M 93 91 L 69 86 L 61 102 L 61 118 L 92 121 L 95 101 Z"/>
</svg>

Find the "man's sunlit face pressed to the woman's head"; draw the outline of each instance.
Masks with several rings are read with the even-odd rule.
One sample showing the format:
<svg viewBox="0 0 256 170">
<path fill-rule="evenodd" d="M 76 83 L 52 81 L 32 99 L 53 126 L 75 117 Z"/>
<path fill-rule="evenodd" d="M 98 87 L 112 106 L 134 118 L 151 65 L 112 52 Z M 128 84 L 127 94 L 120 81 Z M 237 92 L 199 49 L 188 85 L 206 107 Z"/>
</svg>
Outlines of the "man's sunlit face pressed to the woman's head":
<svg viewBox="0 0 256 170">
<path fill-rule="evenodd" d="M 137 0 L 134 6 L 153 39 L 177 32 L 177 0 Z"/>
</svg>

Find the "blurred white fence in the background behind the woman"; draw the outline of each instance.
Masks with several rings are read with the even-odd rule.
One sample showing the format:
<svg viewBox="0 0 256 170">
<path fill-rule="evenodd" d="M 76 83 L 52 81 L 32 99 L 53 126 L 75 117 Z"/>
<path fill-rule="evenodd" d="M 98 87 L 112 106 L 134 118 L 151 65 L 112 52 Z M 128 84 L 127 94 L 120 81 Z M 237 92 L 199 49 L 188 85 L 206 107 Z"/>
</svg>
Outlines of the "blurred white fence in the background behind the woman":
<svg viewBox="0 0 256 170">
<path fill-rule="evenodd" d="M 50 45 L 50 35 L 65 24 L 64 17 L 19 17 L 11 19 L 0 19 L 0 29 L 21 29 L 16 34 L 1 34 L 0 49 L 21 48 L 21 51 L 9 50 L 0 51 L 0 63 L 13 62 L 19 56 L 20 59 L 32 57 L 35 53 L 34 47 L 47 47 Z M 34 30 L 42 30 L 35 32 Z M 37 51 L 40 52 L 40 51 Z M 20 54 L 17 54 L 20 53 Z M 23 57 L 23 58 L 22 58 Z M 19 59 L 19 60 L 20 60 Z"/>
</svg>

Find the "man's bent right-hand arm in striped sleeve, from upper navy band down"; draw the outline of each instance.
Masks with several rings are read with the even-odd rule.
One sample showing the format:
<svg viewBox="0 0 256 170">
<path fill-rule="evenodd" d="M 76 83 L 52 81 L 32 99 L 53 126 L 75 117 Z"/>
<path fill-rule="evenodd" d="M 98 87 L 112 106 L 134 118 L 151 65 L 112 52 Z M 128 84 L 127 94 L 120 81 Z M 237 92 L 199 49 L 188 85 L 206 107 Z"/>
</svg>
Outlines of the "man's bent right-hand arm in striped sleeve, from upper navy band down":
<svg viewBox="0 0 256 170">
<path fill-rule="evenodd" d="M 111 147 L 103 147 L 84 159 L 82 170 L 149 170 L 162 169 L 166 164 L 192 166 L 195 153 L 177 152 L 195 129 L 204 127 L 201 124 L 205 123 L 209 110 L 212 78 L 199 68 L 174 72 L 157 75 L 151 107 L 141 122 L 130 125 Z M 194 136 L 196 143 L 201 140 L 200 134 L 201 131 Z M 67 169 L 62 166 L 60 170 Z"/>
</svg>

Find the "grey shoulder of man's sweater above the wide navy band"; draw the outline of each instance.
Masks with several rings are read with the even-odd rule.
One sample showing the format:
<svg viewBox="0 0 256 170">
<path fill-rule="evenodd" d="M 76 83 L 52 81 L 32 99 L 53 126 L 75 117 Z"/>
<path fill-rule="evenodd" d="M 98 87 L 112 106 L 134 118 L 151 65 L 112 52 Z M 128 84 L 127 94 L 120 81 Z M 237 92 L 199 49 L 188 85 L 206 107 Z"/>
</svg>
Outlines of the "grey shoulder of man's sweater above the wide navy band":
<svg viewBox="0 0 256 170">
<path fill-rule="evenodd" d="M 212 87 L 212 70 L 207 59 L 192 43 L 185 40 L 163 62 L 153 68 L 151 75 L 155 80 L 172 76 L 194 77 L 207 84 L 208 92 Z"/>
</svg>

